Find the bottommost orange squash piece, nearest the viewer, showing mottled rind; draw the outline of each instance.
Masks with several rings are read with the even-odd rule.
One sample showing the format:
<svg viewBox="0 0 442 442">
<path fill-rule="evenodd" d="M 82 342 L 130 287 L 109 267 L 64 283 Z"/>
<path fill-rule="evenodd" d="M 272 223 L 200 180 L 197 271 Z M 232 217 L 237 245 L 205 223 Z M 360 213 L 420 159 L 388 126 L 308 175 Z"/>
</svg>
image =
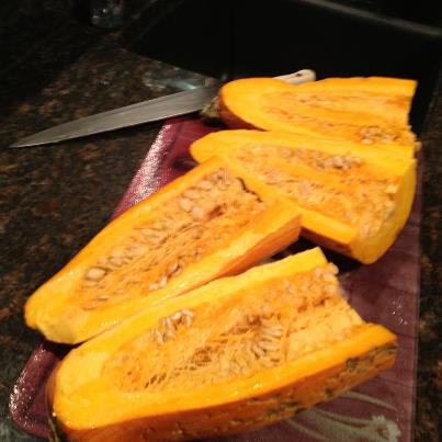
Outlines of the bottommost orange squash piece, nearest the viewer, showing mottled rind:
<svg viewBox="0 0 442 442">
<path fill-rule="evenodd" d="M 70 441 L 243 432 L 329 400 L 394 363 L 396 337 L 341 297 L 319 249 L 220 279 L 72 350 L 53 376 Z"/>
</svg>

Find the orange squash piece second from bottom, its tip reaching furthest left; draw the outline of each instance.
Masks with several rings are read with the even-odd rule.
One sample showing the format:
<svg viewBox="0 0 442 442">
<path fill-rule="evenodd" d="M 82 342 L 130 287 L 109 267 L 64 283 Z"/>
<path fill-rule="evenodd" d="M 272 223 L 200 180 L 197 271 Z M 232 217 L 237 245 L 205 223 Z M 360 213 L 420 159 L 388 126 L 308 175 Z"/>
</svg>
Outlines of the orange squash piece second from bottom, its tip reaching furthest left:
<svg viewBox="0 0 442 442">
<path fill-rule="evenodd" d="M 29 326 L 76 343 L 298 237 L 288 200 L 220 159 L 199 166 L 109 224 L 25 305 Z"/>
</svg>

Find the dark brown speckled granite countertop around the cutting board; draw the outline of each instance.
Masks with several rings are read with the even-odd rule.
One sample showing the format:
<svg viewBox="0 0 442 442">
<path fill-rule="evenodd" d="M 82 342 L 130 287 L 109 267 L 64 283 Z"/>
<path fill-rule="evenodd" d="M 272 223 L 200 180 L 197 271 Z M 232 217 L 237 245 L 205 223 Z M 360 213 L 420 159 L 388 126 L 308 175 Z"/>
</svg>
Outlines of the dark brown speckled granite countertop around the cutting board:
<svg viewBox="0 0 442 442">
<path fill-rule="evenodd" d="M 79 23 L 66 13 L 67 1 L 42 2 L 46 8 L 43 14 L 31 3 L 21 1 L 16 10 L 0 10 L 0 21 L 10 26 L 2 30 L 7 38 L 0 47 L 2 441 L 34 440 L 15 430 L 8 417 L 11 387 L 41 339 L 24 326 L 23 304 L 106 224 L 160 123 L 72 140 L 57 148 L 3 147 L 72 118 L 170 92 L 143 84 L 146 71 L 165 73 L 168 67 L 124 49 L 118 32 Z M 22 24 L 26 20 L 32 33 L 13 33 L 18 20 Z M 418 441 L 437 441 L 442 396 L 438 329 L 442 316 L 441 82 L 421 138 L 426 169 L 415 434 Z"/>
</svg>

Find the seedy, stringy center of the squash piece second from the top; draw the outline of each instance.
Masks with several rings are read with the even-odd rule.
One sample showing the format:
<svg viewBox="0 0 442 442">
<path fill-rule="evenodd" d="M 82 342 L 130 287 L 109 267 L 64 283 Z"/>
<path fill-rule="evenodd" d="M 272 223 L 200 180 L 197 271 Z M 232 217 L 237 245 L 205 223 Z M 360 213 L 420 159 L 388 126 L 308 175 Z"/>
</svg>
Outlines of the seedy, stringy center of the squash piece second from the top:
<svg viewBox="0 0 442 442">
<path fill-rule="evenodd" d="M 299 146 L 291 148 L 292 156 L 287 157 L 286 149 L 271 144 L 245 145 L 235 156 L 299 206 L 355 227 L 361 236 L 377 235 L 394 216 L 392 203 L 396 205 L 393 196 L 399 179 L 375 177 L 351 151 L 330 155 Z"/>
</svg>

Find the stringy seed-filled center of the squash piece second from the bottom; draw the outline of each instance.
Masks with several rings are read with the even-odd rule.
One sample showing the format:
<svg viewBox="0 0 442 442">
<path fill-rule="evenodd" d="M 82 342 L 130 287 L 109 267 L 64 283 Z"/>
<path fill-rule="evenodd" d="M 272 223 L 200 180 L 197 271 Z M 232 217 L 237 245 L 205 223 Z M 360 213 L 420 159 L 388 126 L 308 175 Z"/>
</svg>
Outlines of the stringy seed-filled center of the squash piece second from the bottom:
<svg viewBox="0 0 442 442">
<path fill-rule="evenodd" d="M 259 195 L 227 169 L 214 170 L 170 196 L 151 219 L 135 226 L 109 251 L 103 250 L 84 272 L 76 295 L 82 298 L 81 305 L 93 309 L 103 305 L 95 299 L 99 285 L 109 303 L 160 290 L 265 209 Z"/>
</svg>

